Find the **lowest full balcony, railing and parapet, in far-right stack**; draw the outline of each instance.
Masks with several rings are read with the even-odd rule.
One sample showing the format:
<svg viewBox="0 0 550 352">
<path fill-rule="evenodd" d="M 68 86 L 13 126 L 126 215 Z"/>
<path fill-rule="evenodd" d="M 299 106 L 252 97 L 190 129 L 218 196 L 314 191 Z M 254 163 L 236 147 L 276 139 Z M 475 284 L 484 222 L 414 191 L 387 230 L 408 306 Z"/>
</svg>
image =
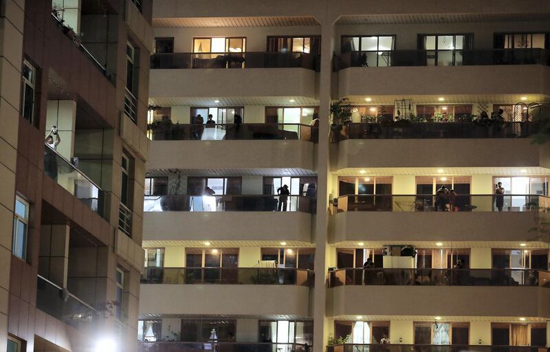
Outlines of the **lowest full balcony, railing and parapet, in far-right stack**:
<svg viewBox="0 0 550 352">
<path fill-rule="evenodd" d="M 366 273 L 369 285 L 362 285 L 362 272 L 351 272 L 349 278 L 345 271 L 336 272 L 349 284 L 327 292 L 333 302 L 333 316 L 402 316 L 406 312 L 408 316 L 544 318 L 550 314 L 550 289 L 542 281 L 537 283 L 537 279 L 548 280 L 547 272 L 531 275 L 512 270 L 464 270 L 452 272 L 453 282 L 445 278 L 448 270 L 384 269 L 380 277 L 376 270 Z M 333 283 L 339 285 L 340 279 Z M 365 295 L 369 299 L 357 299 Z"/>
</svg>

